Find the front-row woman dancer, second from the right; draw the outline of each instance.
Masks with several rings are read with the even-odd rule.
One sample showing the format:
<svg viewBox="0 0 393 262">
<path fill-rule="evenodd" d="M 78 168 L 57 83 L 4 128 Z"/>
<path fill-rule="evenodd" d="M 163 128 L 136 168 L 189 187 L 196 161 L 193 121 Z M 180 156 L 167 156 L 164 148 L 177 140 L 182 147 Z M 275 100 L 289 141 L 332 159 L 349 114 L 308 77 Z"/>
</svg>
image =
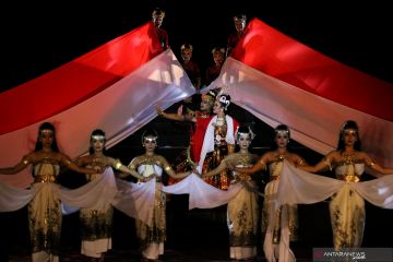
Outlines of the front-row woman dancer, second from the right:
<svg viewBox="0 0 393 262">
<path fill-rule="evenodd" d="M 274 200 L 284 159 L 295 166 L 303 166 L 306 163 L 299 155 L 288 151 L 290 132 L 287 126 L 278 124 L 274 132 L 275 150 L 263 154 L 259 162 L 250 168 L 231 167 L 231 169 L 239 172 L 269 169 L 270 182 L 265 186 L 262 210 L 262 231 L 265 234 L 263 251 L 270 262 L 295 261 L 295 255 L 289 249 L 289 241 L 297 238 L 297 205 L 284 205 L 277 209 Z"/>
</svg>

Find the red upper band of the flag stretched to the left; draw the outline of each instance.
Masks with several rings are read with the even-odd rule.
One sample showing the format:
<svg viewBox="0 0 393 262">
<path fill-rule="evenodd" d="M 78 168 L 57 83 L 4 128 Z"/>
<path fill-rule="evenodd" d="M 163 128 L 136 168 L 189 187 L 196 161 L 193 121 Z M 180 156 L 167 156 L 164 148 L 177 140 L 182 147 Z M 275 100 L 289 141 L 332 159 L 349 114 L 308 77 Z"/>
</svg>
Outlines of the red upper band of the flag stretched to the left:
<svg viewBox="0 0 393 262">
<path fill-rule="evenodd" d="M 163 51 L 151 22 L 46 74 L 0 94 L 0 134 L 61 112 Z"/>
</svg>

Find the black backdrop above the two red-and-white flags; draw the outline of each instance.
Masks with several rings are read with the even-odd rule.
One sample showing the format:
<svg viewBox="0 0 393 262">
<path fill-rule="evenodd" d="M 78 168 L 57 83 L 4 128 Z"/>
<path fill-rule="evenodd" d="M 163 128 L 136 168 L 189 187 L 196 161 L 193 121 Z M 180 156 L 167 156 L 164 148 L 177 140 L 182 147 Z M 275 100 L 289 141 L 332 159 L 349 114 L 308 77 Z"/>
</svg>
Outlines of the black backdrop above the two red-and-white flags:
<svg viewBox="0 0 393 262">
<path fill-rule="evenodd" d="M 202 71 L 226 46 L 233 15 L 258 17 L 288 36 L 373 76 L 393 82 L 389 1 L 5 1 L 1 3 L 0 91 L 46 73 L 166 11 L 176 55 L 194 46 Z"/>
</svg>

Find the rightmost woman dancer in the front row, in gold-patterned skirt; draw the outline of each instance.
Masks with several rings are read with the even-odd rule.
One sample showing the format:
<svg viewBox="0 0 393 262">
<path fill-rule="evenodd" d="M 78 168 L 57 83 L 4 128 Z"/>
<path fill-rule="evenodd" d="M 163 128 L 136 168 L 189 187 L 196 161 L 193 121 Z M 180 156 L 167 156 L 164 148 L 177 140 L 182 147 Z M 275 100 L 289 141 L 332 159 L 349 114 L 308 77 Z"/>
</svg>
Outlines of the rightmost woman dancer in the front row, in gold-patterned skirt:
<svg viewBox="0 0 393 262">
<path fill-rule="evenodd" d="M 353 120 L 348 120 L 344 122 L 340 130 L 337 150 L 329 153 L 314 166 L 300 166 L 299 168 L 310 172 L 318 172 L 327 168 L 334 169 L 336 179 L 352 184 L 358 183 L 361 180 L 366 166 L 380 175 L 393 174 L 393 168 L 380 166 L 367 153 L 361 151 L 358 124 Z M 381 186 L 382 183 L 379 187 Z M 310 191 L 312 190 L 310 189 Z M 384 191 L 386 190 L 388 188 L 384 189 Z M 368 191 L 369 195 L 371 195 L 371 190 Z M 379 192 L 377 196 L 381 198 L 382 193 Z M 382 202 L 386 203 L 386 201 Z M 341 187 L 332 195 L 329 209 L 334 249 L 359 248 L 364 237 L 366 210 L 365 201 L 357 190 L 354 190 L 352 187 Z"/>
</svg>

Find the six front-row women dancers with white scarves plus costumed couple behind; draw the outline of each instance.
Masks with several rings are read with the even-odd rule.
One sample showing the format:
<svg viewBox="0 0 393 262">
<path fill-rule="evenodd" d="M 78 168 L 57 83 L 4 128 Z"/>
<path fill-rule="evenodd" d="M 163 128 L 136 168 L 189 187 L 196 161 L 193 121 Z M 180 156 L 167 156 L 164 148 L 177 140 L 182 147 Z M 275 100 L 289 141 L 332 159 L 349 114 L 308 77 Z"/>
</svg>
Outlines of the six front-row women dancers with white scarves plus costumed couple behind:
<svg viewBox="0 0 393 262">
<path fill-rule="evenodd" d="M 143 259 L 157 260 L 164 254 L 166 240 L 167 193 L 189 194 L 190 209 L 227 204 L 229 257 L 234 260 L 257 258 L 261 221 L 266 260 L 295 261 L 289 243 L 297 237 L 297 204 L 329 198 L 334 248 L 360 247 L 364 199 L 381 207 L 393 206 L 386 201 L 393 195 L 393 176 L 374 179 L 370 184 L 373 180 L 360 182 L 361 175 L 366 167 L 380 175 L 393 174 L 393 168 L 380 166 L 361 151 L 357 123 L 346 121 L 340 130 L 337 150 L 310 166 L 288 151 L 290 131 L 285 124 L 275 128 L 275 148 L 262 156 L 250 153 L 255 134 L 250 127 L 240 126 L 226 115 L 229 105 L 229 95 L 210 91 L 202 95 L 200 111 L 182 115 L 180 109 L 169 114 L 157 106 L 162 117 L 193 123 L 183 170 L 174 170 L 164 156 L 155 153 L 158 134 L 154 130 L 145 130 L 142 135 L 144 154 L 124 166 L 106 155 L 103 130 L 92 132 L 91 154 L 72 160 L 59 152 L 55 127 L 45 122 L 38 129 L 35 150 L 15 166 L 0 168 L 0 174 L 12 175 L 32 166 L 34 178 L 28 189 L 0 182 L 0 212 L 28 206 L 32 260 L 39 262 L 59 261 L 62 213 L 76 211 L 82 225 L 81 252 L 93 261 L 104 261 L 111 249 L 114 207 L 135 218 Z M 87 183 L 73 190 L 62 188 L 58 183 L 62 167 L 85 174 Z M 335 179 L 311 174 L 326 168 L 335 170 Z M 116 177 L 114 169 L 120 176 Z M 252 176 L 259 170 L 270 174 L 262 212 L 258 205 L 261 193 Z M 172 184 L 163 184 L 164 172 L 175 179 Z M 121 179 L 127 176 L 133 176 L 138 182 Z M 290 179 L 297 176 L 299 179 Z M 299 192 L 296 187 L 303 190 Z M 378 191 L 381 187 L 383 194 Z"/>
</svg>

